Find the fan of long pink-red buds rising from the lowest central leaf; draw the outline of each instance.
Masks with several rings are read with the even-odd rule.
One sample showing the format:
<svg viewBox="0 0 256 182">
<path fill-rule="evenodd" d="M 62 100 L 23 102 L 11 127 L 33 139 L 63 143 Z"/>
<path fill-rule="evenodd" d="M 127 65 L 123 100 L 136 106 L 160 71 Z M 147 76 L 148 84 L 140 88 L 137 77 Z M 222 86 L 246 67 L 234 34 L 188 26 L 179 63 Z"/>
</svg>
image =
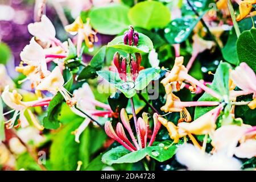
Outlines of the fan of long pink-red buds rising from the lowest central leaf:
<svg viewBox="0 0 256 182">
<path fill-rule="evenodd" d="M 147 138 L 148 138 L 148 131 L 149 131 L 149 123 L 148 123 L 147 113 L 143 113 L 142 118 L 141 117 L 138 118 L 138 121 L 136 123 L 137 139 L 139 140 L 139 144 L 134 137 L 133 130 L 131 130 L 130 122 L 125 109 L 121 110 L 120 117 L 121 117 L 122 123 L 120 122 L 117 123 L 116 131 L 114 131 L 112 123 L 110 121 L 107 121 L 105 123 L 105 131 L 110 138 L 116 140 L 118 143 L 122 144 L 123 147 L 125 147 L 127 150 L 130 150 L 132 152 L 137 151 L 141 148 L 145 148 L 146 146 L 152 145 L 152 143 L 155 140 L 156 134 L 158 133 L 161 126 L 161 123 L 158 121 L 158 114 L 155 113 L 153 115 L 154 130 L 153 130 L 150 142 L 148 144 L 147 144 Z M 126 137 L 123 126 L 125 126 L 125 129 L 129 133 L 133 144 Z"/>
</svg>

